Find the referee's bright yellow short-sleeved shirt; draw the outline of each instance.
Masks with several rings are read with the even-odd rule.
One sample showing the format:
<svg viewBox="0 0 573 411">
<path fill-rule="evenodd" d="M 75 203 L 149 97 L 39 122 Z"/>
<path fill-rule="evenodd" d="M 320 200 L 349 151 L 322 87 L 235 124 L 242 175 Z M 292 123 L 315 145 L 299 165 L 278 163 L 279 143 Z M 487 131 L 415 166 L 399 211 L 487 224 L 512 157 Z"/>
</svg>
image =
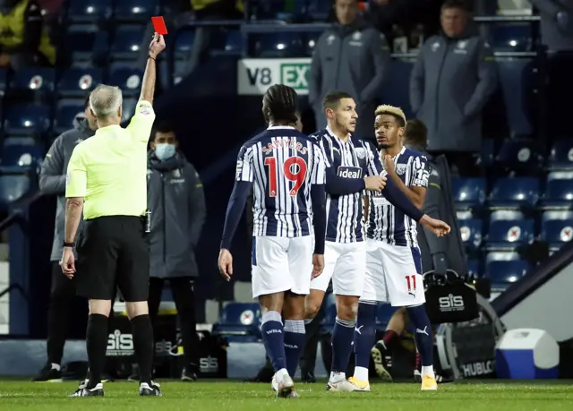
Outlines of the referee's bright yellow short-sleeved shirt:
<svg viewBox="0 0 573 411">
<path fill-rule="evenodd" d="M 83 218 L 142 216 L 147 210 L 147 144 L 155 112 L 137 103 L 130 124 L 108 125 L 75 146 L 65 196 L 83 197 Z"/>
</svg>

